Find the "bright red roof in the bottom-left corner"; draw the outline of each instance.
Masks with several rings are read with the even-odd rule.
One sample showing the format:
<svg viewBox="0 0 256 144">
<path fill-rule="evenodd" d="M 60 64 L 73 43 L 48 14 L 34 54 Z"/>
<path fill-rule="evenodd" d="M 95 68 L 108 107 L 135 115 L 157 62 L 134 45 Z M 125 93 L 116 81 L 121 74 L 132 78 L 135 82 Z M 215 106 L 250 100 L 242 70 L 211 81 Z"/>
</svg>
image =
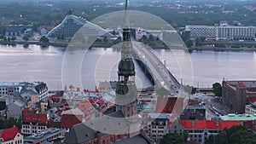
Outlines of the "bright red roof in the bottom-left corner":
<svg viewBox="0 0 256 144">
<path fill-rule="evenodd" d="M 17 127 L 9 128 L 0 131 L 0 138 L 3 141 L 11 141 L 15 139 L 15 136 L 20 133 L 20 130 Z"/>
</svg>

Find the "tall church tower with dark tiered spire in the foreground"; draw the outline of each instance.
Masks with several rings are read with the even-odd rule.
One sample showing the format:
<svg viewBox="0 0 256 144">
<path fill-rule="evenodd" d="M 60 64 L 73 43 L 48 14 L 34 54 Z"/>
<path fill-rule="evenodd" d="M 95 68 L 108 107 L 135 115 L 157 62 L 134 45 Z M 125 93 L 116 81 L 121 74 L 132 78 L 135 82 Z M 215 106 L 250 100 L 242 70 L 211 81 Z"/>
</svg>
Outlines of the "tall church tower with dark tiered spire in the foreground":
<svg viewBox="0 0 256 144">
<path fill-rule="evenodd" d="M 125 24 L 123 26 L 121 60 L 118 66 L 115 105 L 116 111 L 121 111 L 125 118 L 135 119 L 137 115 L 137 87 L 135 84 L 135 66 L 131 58 L 131 48 L 128 0 L 125 0 Z"/>
</svg>

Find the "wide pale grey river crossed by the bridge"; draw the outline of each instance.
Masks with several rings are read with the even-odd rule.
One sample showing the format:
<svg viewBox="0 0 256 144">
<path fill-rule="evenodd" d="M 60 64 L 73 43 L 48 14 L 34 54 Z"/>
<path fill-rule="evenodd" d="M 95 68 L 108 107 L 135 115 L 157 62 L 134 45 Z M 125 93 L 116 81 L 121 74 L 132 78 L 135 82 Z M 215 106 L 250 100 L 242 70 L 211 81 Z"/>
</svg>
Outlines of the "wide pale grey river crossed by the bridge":
<svg viewBox="0 0 256 144">
<path fill-rule="evenodd" d="M 163 62 L 166 60 L 170 72 L 179 82 L 183 81 L 183 84 L 212 87 L 215 82 L 221 83 L 223 78 L 256 79 L 255 52 L 193 51 L 184 55 L 180 50 L 175 56 L 166 49 L 157 49 L 156 52 Z M 29 45 L 28 48 L 23 48 L 22 45 L 0 45 L 0 81 L 44 81 L 49 89 L 62 89 L 65 84 L 62 84 L 61 69 L 69 68 L 62 65 L 64 55 L 70 55 L 65 53 L 65 49 L 52 46 L 42 49 L 38 45 Z M 119 57 L 120 53 L 111 48 L 88 50 L 81 61 L 80 69 L 77 70 L 80 72 L 83 88 L 95 89 L 99 81 L 116 80 Z M 186 65 L 182 66 L 183 63 Z M 71 61 L 69 65 L 79 63 Z M 137 87 L 150 86 L 137 64 L 136 67 Z"/>
</svg>

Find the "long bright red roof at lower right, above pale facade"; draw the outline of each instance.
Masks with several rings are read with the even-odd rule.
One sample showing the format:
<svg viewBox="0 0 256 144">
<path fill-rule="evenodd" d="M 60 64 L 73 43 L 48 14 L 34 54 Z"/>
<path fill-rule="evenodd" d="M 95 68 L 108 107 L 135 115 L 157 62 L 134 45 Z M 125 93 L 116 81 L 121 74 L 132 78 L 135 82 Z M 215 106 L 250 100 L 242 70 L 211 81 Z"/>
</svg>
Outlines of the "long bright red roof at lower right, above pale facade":
<svg viewBox="0 0 256 144">
<path fill-rule="evenodd" d="M 241 125 L 241 121 L 225 121 L 225 120 L 180 120 L 180 124 L 186 129 L 215 129 L 224 130 L 231 128 L 233 125 Z"/>
</svg>

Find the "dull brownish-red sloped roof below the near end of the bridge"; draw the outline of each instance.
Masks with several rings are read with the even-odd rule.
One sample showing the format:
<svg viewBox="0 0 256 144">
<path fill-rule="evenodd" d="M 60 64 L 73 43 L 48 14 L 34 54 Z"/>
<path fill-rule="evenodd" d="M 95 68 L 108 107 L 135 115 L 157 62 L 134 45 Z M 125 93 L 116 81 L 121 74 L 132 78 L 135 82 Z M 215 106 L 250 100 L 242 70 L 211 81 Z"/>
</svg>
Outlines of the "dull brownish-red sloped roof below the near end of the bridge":
<svg viewBox="0 0 256 144">
<path fill-rule="evenodd" d="M 172 109 L 175 106 L 177 97 L 163 97 L 159 96 L 157 98 L 157 104 L 155 112 L 158 113 L 172 113 Z"/>
</svg>

